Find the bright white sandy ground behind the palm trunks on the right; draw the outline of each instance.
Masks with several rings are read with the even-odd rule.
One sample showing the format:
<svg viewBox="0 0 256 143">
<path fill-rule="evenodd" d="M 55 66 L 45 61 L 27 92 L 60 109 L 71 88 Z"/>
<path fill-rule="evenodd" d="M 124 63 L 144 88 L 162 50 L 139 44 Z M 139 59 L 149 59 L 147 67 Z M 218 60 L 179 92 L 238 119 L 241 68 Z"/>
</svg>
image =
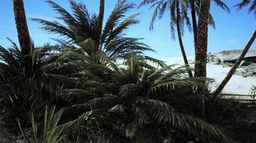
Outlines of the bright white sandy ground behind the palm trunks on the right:
<svg viewBox="0 0 256 143">
<path fill-rule="evenodd" d="M 167 64 L 183 64 L 182 57 L 173 58 L 161 58 L 161 60 L 166 61 Z M 193 57 L 188 57 L 188 60 L 193 61 Z M 193 66 L 193 64 L 191 64 Z M 211 84 L 212 90 L 224 79 L 224 77 L 231 69 L 230 66 L 221 66 L 216 64 L 207 64 L 207 77 L 214 79 L 216 82 Z M 223 89 L 223 94 L 244 94 L 249 95 L 252 85 L 256 86 L 256 76 L 254 77 L 242 77 L 234 74 L 232 79 L 229 80 L 226 87 Z"/>
</svg>

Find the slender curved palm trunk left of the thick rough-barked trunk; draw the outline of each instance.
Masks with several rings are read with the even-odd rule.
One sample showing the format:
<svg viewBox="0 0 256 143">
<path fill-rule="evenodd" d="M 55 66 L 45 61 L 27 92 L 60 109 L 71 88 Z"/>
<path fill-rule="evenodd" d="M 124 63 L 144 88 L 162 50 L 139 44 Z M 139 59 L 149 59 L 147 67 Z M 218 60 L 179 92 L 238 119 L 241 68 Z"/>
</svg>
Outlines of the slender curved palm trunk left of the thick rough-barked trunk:
<svg viewBox="0 0 256 143">
<path fill-rule="evenodd" d="M 178 3 L 178 0 L 177 0 L 176 1 L 176 14 L 177 14 L 176 26 L 177 26 L 177 33 L 178 33 L 178 41 L 179 41 L 179 44 L 180 44 L 180 50 L 181 50 L 181 53 L 182 53 L 182 56 L 183 56 L 184 63 L 186 64 L 186 67 L 188 68 L 188 75 L 189 75 L 189 77 L 193 77 L 193 74 L 192 74 L 191 69 L 190 69 L 189 64 L 188 64 L 186 51 L 184 49 L 183 41 L 182 41 L 182 37 L 181 37 L 181 32 L 180 32 L 180 9 L 179 9 L 178 6 L 179 6 L 179 3 Z"/>
</svg>

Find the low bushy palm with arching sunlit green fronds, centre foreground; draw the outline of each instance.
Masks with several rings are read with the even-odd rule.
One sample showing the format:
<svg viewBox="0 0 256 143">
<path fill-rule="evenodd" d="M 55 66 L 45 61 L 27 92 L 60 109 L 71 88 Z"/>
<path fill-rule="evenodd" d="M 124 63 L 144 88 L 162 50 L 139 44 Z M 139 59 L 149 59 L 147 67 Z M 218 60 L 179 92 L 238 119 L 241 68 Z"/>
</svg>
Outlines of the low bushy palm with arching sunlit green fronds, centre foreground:
<svg viewBox="0 0 256 143">
<path fill-rule="evenodd" d="M 86 104 L 83 106 L 99 110 L 97 115 L 106 116 L 108 113 L 108 116 L 114 116 L 111 120 L 122 122 L 126 127 L 122 132 L 126 132 L 127 137 L 134 141 L 140 140 L 140 129 L 146 129 L 150 124 L 158 124 L 159 127 L 168 125 L 189 134 L 201 134 L 202 137 L 216 137 L 221 142 L 230 142 L 228 137 L 211 124 L 179 113 L 170 104 L 161 101 L 165 94 L 175 94 L 205 80 L 188 78 L 186 70 L 185 66 L 180 69 L 166 66 L 157 70 L 147 64 L 145 59 L 132 55 L 124 61 L 123 66 L 119 66 L 118 71 L 113 71 L 115 89 L 106 90 L 111 93 L 104 92 L 99 97 L 88 95 L 91 99 L 88 102 L 85 100 Z M 105 86 L 103 85 L 107 89 L 106 84 Z M 76 94 L 82 95 L 83 92 L 76 89 Z"/>
</svg>

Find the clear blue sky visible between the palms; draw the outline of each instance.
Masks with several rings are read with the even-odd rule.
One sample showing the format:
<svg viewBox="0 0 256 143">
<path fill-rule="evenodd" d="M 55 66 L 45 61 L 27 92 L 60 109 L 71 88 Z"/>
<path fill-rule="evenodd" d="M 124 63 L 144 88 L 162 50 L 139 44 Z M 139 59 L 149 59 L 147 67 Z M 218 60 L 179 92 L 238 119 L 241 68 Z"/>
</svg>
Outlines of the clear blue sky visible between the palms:
<svg viewBox="0 0 256 143">
<path fill-rule="evenodd" d="M 86 4 L 89 11 L 96 13 L 98 11 L 99 0 L 78 0 Z M 105 19 L 114 8 L 117 0 L 106 0 Z M 138 4 L 140 0 L 130 0 Z M 216 30 L 209 28 L 209 52 L 216 52 L 225 49 L 242 49 L 249 41 L 253 31 L 256 29 L 256 19 L 253 14 L 247 13 L 247 7 L 241 11 L 237 11 L 232 6 L 242 0 L 224 0 L 231 8 L 232 13 L 227 14 L 215 4 L 211 4 L 211 14 L 214 16 L 216 22 Z M 68 9 L 68 0 L 55 0 L 58 4 Z M 55 12 L 50 9 L 45 3 L 45 0 L 24 0 L 24 6 L 27 13 L 29 32 L 32 39 L 37 46 L 45 43 L 52 43 L 50 38 L 56 37 L 52 34 L 47 34 L 40 29 L 40 24 L 31 21 L 29 18 L 41 18 L 53 20 Z M 173 41 L 170 37 L 168 13 L 163 19 L 155 23 L 155 29 L 149 30 L 150 20 L 152 16 L 152 9 L 145 6 L 142 9 L 133 9 L 129 14 L 141 13 L 138 16 L 140 24 L 132 26 L 127 30 L 128 36 L 145 38 L 143 42 L 148 44 L 157 51 L 154 53 L 147 53 L 154 57 L 170 57 L 181 56 L 178 41 Z M 14 14 L 12 11 L 12 0 L 0 1 L 0 45 L 9 47 L 10 43 L 6 39 L 18 42 L 16 26 L 14 24 Z M 193 34 L 186 31 L 183 36 L 184 46 L 188 56 L 193 56 Z M 256 42 L 252 45 L 256 48 Z"/>
</svg>

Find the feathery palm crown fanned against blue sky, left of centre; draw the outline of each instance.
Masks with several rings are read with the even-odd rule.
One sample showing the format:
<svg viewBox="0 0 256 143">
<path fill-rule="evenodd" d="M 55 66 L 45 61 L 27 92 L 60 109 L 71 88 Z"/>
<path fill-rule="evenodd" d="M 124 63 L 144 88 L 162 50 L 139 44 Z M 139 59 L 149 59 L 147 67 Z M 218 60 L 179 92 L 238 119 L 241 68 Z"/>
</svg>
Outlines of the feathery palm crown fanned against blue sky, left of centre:
<svg viewBox="0 0 256 143">
<path fill-rule="evenodd" d="M 65 25 L 57 21 L 34 19 L 42 24 L 42 29 L 63 36 L 65 40 L 58 41 L 66 48 L 89 56 L 93 61 L 101 64 L 109 60 L 122 59 L 130 52 L 142 54 L 143 51 L 152 51 L 147 45 L 141 43 L 140 39 L 127 37 L 124 34 L 129 26 L 139 23 L 135 19 L 138 14 L 129 17 L 124 15 L 134 7 L 134 4 L 119 0 L 103 28 L 104 1 L 101 1 L 99 16 L 91 15 L 84 4 L 78 4 L 73 0 L 69 2 L 73 14 L 53 1 L 47 1 L 58 12 L 60 15 L 58 19 Z"/>
</svg>

